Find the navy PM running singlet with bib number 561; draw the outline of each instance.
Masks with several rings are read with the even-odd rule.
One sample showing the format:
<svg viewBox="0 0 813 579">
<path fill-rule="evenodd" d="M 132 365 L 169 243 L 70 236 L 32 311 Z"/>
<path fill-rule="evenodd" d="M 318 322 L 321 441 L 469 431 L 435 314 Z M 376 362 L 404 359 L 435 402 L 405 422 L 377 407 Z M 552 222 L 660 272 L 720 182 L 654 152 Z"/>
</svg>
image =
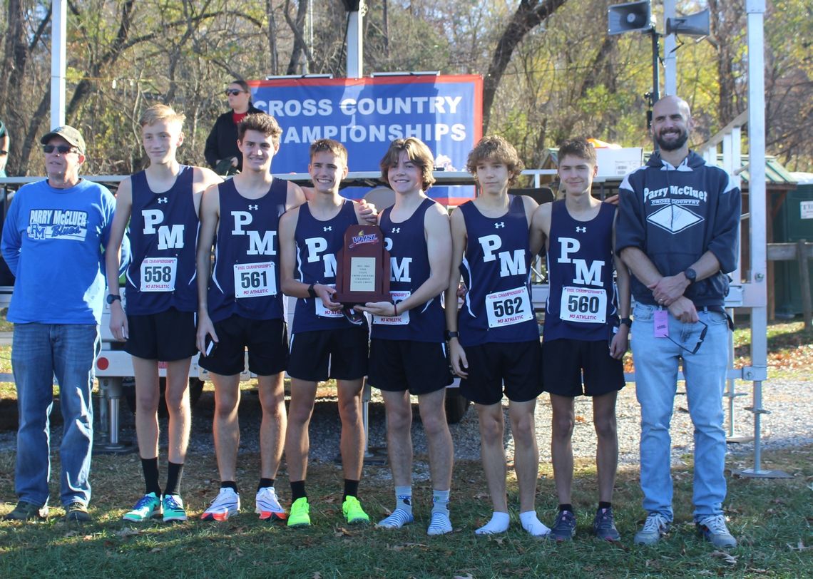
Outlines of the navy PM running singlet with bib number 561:
<svg viewBox="0 0 813 579">
<path fill-rule="evenodd" d="M 252 320 L 284 317 L 277 230 L 288 181 L 275 179 L 263 197 L 249 199 L 229 179 L 218 185 L 218 195 L 220 222 L 208 296 L 211 320 L 234 314 Z"/>
</svg>

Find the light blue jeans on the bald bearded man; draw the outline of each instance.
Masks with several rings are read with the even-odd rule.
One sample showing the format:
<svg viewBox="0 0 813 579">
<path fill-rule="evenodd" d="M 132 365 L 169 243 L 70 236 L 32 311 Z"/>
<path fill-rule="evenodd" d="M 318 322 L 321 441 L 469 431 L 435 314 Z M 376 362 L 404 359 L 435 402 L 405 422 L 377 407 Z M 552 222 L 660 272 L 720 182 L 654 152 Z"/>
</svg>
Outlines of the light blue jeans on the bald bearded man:
<svg viewBox="0 0 813 579">
<path fill-rule="evenodd" d="M 654 311 L 637 304 L 633 324 L 635 390 L 641 404 L 641 490 L 643 507 L 672 520 L 672 438 L 677 370 L 683 360 L 689 416 L 694 425 L 694 519 L 722 514 L 726 483 L 723 391 L 728 367 L 728 320 L 722 312 L 698 309 L 708 325 L 696 354 L 702 324 L 684 324 L 667 313 L 669 337 L 654 337 Z"/>
</svg>

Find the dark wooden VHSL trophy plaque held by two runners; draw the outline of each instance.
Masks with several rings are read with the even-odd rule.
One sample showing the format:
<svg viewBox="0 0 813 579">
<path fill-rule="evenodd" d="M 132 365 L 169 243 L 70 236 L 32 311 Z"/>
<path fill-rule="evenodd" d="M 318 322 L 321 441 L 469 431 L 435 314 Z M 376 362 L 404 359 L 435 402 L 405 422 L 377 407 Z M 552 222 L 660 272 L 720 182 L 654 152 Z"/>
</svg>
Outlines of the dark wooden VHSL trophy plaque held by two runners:
<svg viewBox="0 0 813 579">
<path fill-rule="evenodd" d="M 389 302 L 389 251 L 378 225 L 351 225 L 337 259 L 336 294 L 346 306 Z"/>
</svg>

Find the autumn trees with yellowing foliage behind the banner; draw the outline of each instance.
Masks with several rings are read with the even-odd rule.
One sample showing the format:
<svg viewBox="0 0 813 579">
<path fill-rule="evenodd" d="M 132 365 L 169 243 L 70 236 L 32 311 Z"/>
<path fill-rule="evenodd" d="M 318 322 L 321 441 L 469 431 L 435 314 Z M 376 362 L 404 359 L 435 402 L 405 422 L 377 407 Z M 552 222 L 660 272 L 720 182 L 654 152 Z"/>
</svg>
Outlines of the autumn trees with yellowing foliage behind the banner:
<svg viewBox="0 0 813 579">
<path fill-rule="evenodd" d="M 613 0 L 369 0 L 364 72 L 437 70 L 484 77 L 484 127 L 536 167 L 572 135 L 647 146 L 650 37 L 606 34 Z M 813 25 L 809 2 L 768 0 L 767 152 L 813 170 Z M 9 172 L 41 173 L 37 137 L 50 124 L 51 3 L 7 0 L 0 31 L 0 119 Z M 711 36 L 680 39 L 678 91 L 700 142 L 747 107 L 745 0 L 708 6 Z M 88 172 L 141 168 L 137 118 L 154 102 L 187 115 L 183 160 L 202 163 L 203 140 L 226 108 L 233 78 L 345 76 L 341 0 L 72 0 L 67 3 L 67 122 L 89 144 Z M 653 2 L 663 31 L 663 7 Z"/>
</svg>

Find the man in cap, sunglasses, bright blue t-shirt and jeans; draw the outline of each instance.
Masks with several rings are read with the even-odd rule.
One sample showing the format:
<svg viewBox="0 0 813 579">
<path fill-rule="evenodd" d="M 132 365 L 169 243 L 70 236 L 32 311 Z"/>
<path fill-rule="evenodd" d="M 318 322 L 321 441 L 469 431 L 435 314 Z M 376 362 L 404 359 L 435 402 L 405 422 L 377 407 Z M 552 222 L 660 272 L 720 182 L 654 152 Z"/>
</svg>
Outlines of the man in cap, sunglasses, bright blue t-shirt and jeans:
<svg viewBox="0 0 813 579">
<path fill-rule="evenodd" d="M 46 181 L 20 187 L 2 231 L 2 255 L 16 276 L 8 309 L 14 322 L 11 365 L 17 387 L 15 492 L 5 520 L 44 519 L 50 479 L 49 416 L 54 377 L 64 419 L 59 447 L 64 520 L 90 520 L 93 361 L 100 349 L 105 295 L 102 248 L 111 235 L 115 199 L 79 176 L 85 139 L 76 128 L 41 138 Z M 128 261 L 128 243 L 123 246 Z"/>
</svg>

